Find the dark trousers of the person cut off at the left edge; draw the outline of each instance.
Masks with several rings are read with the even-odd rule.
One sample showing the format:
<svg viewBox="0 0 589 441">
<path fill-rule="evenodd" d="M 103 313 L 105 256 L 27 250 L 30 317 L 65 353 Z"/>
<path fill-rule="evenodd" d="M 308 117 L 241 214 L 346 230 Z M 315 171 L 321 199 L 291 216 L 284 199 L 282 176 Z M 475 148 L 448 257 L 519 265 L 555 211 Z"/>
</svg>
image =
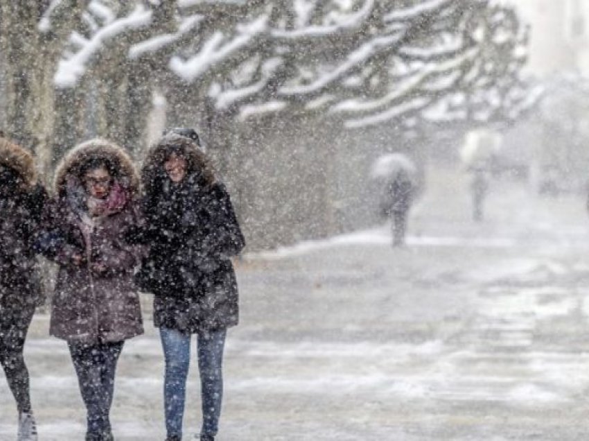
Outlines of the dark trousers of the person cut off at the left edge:
<svg viewBox="0 0 589 441">
<path fill-rule="evenodd" d="M 28 412 L 30 386 L 23 349 L 35 306 L 21 306 L 22 308 L 0 307 L 0 364 L 6 374 L 8 387 L 17 401 L 17 409 L 19 412 Z"/>
</svg>

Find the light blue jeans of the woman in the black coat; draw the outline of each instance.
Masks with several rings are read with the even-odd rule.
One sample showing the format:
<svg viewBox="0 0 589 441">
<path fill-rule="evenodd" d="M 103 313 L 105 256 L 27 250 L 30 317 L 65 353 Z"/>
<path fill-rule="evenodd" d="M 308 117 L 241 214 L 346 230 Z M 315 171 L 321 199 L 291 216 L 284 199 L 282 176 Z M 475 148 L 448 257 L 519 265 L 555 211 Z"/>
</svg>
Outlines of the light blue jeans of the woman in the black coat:
<svg viewBox="0 0 589 441">
<path fill-rule="evenodd" d="M 200 395 L 202 397 L 201 435 L 215 436 L 218 431 L 223 398 L 223 348 L 227 331 L 202 331 L 197 334 Z M 160 328 L 161 345 L 166 358 L 164 406 L 168 436 L 182 438 L 182 418 L 186 397 L 186 377 L 190 365 L 191 334 Z"/>
</svg>

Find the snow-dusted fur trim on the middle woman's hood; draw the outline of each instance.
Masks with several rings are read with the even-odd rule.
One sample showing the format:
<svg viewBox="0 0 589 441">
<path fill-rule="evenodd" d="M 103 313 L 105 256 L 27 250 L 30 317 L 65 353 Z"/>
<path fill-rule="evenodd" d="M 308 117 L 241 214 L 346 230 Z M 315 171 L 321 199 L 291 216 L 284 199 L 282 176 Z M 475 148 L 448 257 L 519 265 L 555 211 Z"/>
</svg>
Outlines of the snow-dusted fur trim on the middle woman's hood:
<svg viewBox="0 0 589 441">
<path fill-rule="evenodd" d="M 129 189 L 132 195 L 139 190 L 139 174 L 133 160 L 122 147 L 105 139 L 91 139 L 69 150 L 55 171 L 55 193 L 64 195 L 67 179 L 73 176 L 81 180 L 82 166 L 92 159 L 106 159 L 115 168 L 119 184 Z"/>
</svg>

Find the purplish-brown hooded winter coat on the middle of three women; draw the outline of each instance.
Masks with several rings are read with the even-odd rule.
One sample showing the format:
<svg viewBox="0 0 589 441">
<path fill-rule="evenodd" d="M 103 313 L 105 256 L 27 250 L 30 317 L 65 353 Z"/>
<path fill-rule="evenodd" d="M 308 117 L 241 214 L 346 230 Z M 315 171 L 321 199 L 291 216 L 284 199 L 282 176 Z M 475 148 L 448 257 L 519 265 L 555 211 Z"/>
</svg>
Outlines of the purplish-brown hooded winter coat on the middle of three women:
<svg viewBox="0 0 589 441">
<path fill-rule="evenodd" d="M 83 209 L 74 196 L 83 194 L 80 166 L 89 158 L 109 159 L 127 202 L 96 218 L 94 228 L 85 235 Z M 46 210 L 44 228 L 45 239 L 54 239 L 53 249 L 45 252 L 60 265 L 51 309 L 51 335 L 69 343 L 94 344 L 118 342 L 143 333 L 139 297 L 133 284 L 141 250 L 123 240 L 125 231 L 139 223 L 134 202 L 137 182 L 130 157 L 118 146 L 100 139 L 74 148 L 58 167 L 56 195 Z M 74 264 L 74 254 L 84 256 L 85 261 Z M 96 262 L 103 263 L 107 271 L 93 273 L 90 268 Z"/>
</svg>

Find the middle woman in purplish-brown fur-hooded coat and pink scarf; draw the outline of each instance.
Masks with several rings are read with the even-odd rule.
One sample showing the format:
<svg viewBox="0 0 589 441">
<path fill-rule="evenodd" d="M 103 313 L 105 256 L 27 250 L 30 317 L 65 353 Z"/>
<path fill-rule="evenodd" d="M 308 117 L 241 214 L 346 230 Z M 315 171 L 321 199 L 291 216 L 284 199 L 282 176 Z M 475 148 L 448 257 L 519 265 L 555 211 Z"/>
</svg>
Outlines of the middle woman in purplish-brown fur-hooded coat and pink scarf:
<svg viewBox="0 0 589 441">
<path fill-rule="evenodd" d="M 133 284 L 141 259 L 123 233 L 137 227 L 138 177 L 122 148 L 95 139 L 63 159 L 42 236 L 60 268 L 51 335 L 67 341 L 87 408 L 86 440 L 112 440 L 109 410 L 123 342 L 143 333 Z"/>
</svg>

